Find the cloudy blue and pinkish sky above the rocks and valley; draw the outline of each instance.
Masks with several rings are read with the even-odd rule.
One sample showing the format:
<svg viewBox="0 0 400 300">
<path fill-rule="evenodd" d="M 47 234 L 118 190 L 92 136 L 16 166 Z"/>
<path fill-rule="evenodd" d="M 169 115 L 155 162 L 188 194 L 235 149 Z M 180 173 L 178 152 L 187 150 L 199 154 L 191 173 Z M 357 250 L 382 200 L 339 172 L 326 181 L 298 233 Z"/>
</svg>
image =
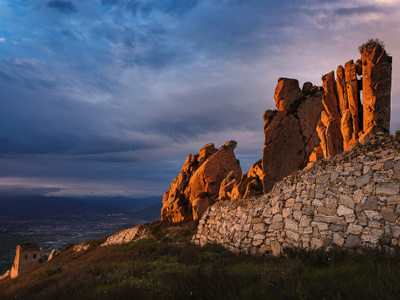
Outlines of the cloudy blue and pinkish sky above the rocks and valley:
<svg viewBox="0 0 400 300">
<path fill-rule="evenodd" d="M 262 156 L 279 77 L 321 85 L 370 38 L 393 56 L 400 0 L 0 0 L 0 195 L 162 195 L 186 156 Z"/>
</svg>

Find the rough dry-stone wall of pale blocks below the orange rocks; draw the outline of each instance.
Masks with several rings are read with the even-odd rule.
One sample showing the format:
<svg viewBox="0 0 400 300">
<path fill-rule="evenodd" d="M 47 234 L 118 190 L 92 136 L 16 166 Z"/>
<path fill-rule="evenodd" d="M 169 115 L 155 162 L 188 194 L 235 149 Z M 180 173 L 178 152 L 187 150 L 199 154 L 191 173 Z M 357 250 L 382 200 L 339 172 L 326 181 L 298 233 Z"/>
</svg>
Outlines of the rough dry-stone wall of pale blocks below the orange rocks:
<svg viewBox="0 0 400 300">
<path fill-rule="evenodd" d="M 364 145 L 284 178 L 259 199 L 218 202 L 193 242 L 236 252 L 400 244 L 400 134 Z"/>
</svg>

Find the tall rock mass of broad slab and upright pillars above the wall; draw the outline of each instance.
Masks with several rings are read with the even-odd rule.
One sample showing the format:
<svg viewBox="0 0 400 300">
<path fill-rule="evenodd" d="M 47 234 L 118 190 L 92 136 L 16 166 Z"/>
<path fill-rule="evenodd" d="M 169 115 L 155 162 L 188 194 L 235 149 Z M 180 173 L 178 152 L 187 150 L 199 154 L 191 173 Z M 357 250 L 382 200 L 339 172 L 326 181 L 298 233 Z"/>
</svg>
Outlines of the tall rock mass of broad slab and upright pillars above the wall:
<svg viewBox="0 0 400 300">
<path fill-rule="evenodd" d="M 336 79 L 334 71 L 324 75 L 323 88 L 305 83 L 300 90 L 295 79 L 278 80 L 274 98 L 279 111 L 264 114 L 264 192 L 310 162 L 389 132 L 392 58 L 374 40 L 360 53 L 356 63 L 337 68 Z"/>
</svg>

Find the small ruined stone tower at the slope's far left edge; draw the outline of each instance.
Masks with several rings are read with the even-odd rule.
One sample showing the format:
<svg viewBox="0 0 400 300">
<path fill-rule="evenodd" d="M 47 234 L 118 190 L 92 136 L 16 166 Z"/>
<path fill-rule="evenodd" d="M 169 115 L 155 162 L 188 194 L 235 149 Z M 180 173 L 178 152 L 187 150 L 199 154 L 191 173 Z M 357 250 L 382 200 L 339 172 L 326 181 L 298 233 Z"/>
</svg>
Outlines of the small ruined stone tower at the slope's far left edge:
<svg viewBox="0 0 400 300">
<path fill-rule="evenodd" d="M 41 253 L 38 245 L 34 243 L 19 244 L 11 267 L 11 278 L 18 277 L 40 262 Z"/>
</svg>

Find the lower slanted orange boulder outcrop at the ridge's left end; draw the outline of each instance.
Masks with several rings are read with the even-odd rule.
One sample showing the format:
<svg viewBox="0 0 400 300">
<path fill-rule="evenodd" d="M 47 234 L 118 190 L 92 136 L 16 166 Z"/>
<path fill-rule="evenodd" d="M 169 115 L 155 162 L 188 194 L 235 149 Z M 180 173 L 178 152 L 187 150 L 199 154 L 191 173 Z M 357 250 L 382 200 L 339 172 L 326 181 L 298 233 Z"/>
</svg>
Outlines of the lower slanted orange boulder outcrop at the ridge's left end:
<svg viewBox="0 0 400 300">
<path fill-rule="evenodd" d="M 205 210 L 218 201 L 221 183 L 228 175 L 240 178 L 242 170 L 235 157 L 235 141 L 225 143 L 220 149 L 207 144 L 199 154 L 186 158 L 181 173 L 164 193 L 161 219 L 179 222 L 198 219 Z M 227 193 L 229 192 L 227 188 Z"/>
</svg>

